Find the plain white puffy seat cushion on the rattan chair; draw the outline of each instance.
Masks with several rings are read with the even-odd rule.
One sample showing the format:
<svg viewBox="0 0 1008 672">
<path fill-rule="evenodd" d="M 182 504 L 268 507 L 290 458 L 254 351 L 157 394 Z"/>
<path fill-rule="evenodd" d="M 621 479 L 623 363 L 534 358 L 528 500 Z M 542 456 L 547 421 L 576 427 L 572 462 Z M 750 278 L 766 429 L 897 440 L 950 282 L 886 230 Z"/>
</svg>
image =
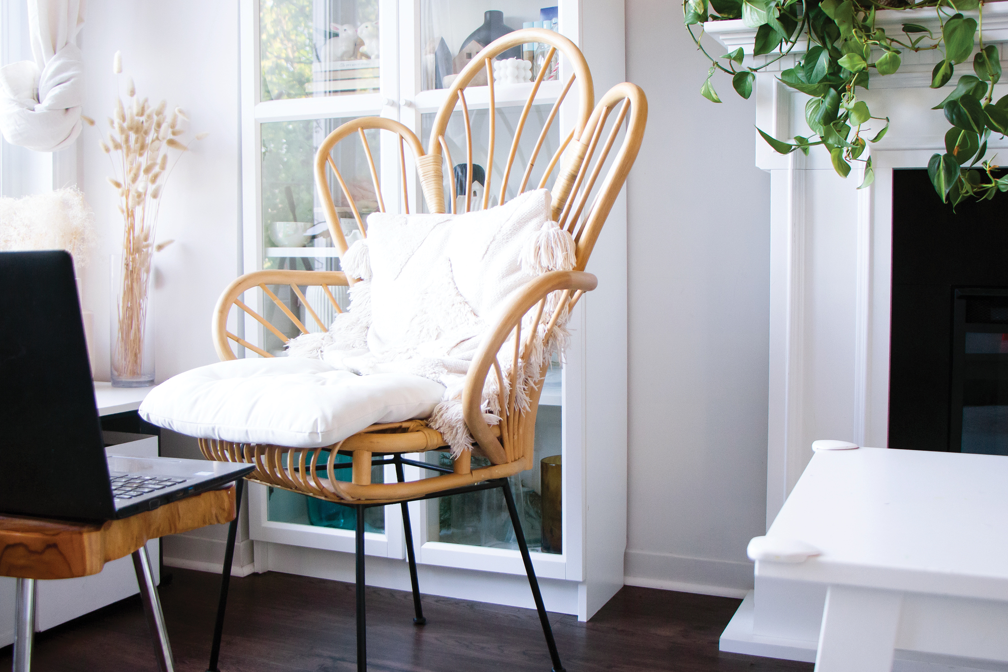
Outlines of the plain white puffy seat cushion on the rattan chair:
<svg viewBox="0 0 1008 672">
<path fill-rule="evenodd" d="M 444 385 L 411 374 L 358 376 L 278 357 L 186 371 L 151 390 L 139 412 L 197 438 L 316 448 L 376 422 L 428 417 L 444 394 Z"/>
</svg>

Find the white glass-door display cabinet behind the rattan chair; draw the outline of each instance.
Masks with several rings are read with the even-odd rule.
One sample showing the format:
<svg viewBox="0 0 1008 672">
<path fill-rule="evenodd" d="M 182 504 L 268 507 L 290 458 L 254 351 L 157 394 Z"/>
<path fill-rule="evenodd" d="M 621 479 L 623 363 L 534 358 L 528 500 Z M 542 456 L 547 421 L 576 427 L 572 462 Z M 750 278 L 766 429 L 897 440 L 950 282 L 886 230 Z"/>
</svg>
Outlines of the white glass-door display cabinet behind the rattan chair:
<svg viewBox="0 0 1008 672">
<path fill-rule="evenodd" d="M 598 98 L 625 79 L 622 2 L 243 0 L 244 270 L 339 270 L 339 254 L 329 240 L 313 185 L 314 150 L 326 135 L 349 119 L 380 115 L 405 124 L 426 146 L 428 127 L 447 95 L 444 89 L 435 88 L 440 79 L 432 77 L 430 71 L 436 64 L 437 47 L 442 48 L 436 54 L 440 57 L 440 70 L 447 71 L 445 49 L 453 61 L 465 58 L 467 44 L 463 42 L 484 23 L 486 11 L 500 9 L 503 23 L 518 29 L 525 22 L 541 20 L 541 10 L 553 4 L 556 29 L 585 52 Z M 353 49 L 355 29 L 361 37 L 356 42 L 357 50 Z M 377 57 L 368 58 L 375 45 Z M 455 70 L 458 65 L 451 68 Z M 541 85 L 528 122 L 530 127 L 538 124 L 541 128 L 551 104 L 562 91 L 569 76 L 562 59 L 557 70 L 555 81 L 544 81 Z M 496 87 L 498 128 L 513 128 L 531 87 L 530 83 Z M 467 88 L 466 102 L 472 115 L 474 162 L 479 163 L 479 156 L 486 154 L 487 134 L 483 127 L 487 124 L 489 87 Z M 546 138 L 544 155 L 550 155 L 561 134 L 570 131 L 571 115 L 573 106 L 564 103 L 558 128 L 554 125 Z M 461 115 L 457 116 L 460 116 L 458 123 L 453 119 L 446 139 L 452 155 L 464 161 L 464 127 Z M 529 146 L 523 140 L 515 161 L 522 167 L 523 153 L 530 151 L 538 130 L 525 135 L 529 134 Z M 398 144 L 380 138 L 378 131 L 369 132 L 367 139 L 382 183 L 385 210 L 403 212 L 405 204 L 401 198 L 388 195 L 401 193 Z M 495 148 L 498 157 L 507 156 L 510 140 L 509 134 L 498 132 Z M 341 143 L 334 159 L 354 192 L 362 216 L 377 210 L 363 145 Z M 411 167 L 409 152 L 406 161 L 407 168 Z M 502 163 L 503 160 L 495 162 L 492 181 L 496 184 L 500 184 L 498 171 Z M 544 166 L 545 161 L 541 163 Z M 542 167 L 537 169 L 541 171 Z M 413 173 L 407 170 L 407 174 Z M 511 182 L 514 188 L 517 180 Z M 421 212 L 423 203 L 418 183 L 407 186 L 409 212 Z M 347 204 L 342 201 L 339 187 L 333 192 L 345 235 L 359 235 L 353 233 L 356 222 Z M 578 306 L 571 322 L 575 334 L 572 347 L 562 367 L 557 363 L 547 376 L 536 424 L 536 467 L 515 477 L 517 481 L 513 483 L 516 495 L 521 494 L 516 499 L 524 510 L 525 533 L 533 551 L 535 570 L 544 579 L 547 609 L 578 614 L 582 619 L 590 618 L 623 582 L 625 239 L 626 211 L 621 198 L 612 211 L 588 269 L 600 276 L 600 290 L 592 292 Z M 337 300 L 347 305 L 346 288 L 332 289 Z M 281 293 L 279 288 L 274 291 L 310 330 L 322 328 L 294 292 L 288 289 Z M 328 324 L 332 320 L 332 312 L 326 307 L 328 301 L 321 291 L 319 296 L 306 293 L 304 298 L 316 308 L 322 322 Z M 296 333 L 293 322 L 284 322 L 280 310 L 261 291 L 250 291 L 243 300 L 267 319 L 278 318 L 275 323 L 285 334 Z M 252 317 L 238 318 L 233 314 L 232 320 L 230 328 L 248 343 L 272 354 L 282 354 L 280 340 Z M 589 353 L 598 359 L 593 362 Z M 243 350 L 239 355 L 256 357 L 251 350 Z M 536 516 L 540 495 L 538 462 L 555 454 L 562 454 L 562 552 L 547 553 L 536 550 L 540 536 Z M 409 456 L 435 462 L 440 459 L 438 452 Z M 405 468 L 407 480 L 420 478 L 418 467 Z M 395 478 L 393 466 L 375 467 L 374 482 L 390 482 Z M 591 513 L 589 498 L 593 502 Z M 255 484 L 249 489 L 248 502 L 258 571 L 279 570 L 352 580 L 353 556 L 344 553 L 354 551 L 353 516 L 342 516 L 342 507 Z M 515 594 L 516 584 L 511 575 L 525 572 L 513 534 L 509 537 L 509 526 L 498 524 L 498 514 L 503 512 L 503 518 L 507 518 L 503 506 L 500 491 L 409 504 L 421 591 L 531 606 L 530 595 L 526 599 L 524 592 Z M 365 548 L 372 556 L 368 564 L 369 582 L 408 588 L 399 506 L 369 510 L 366 525 Z M 442 567 L 457 568 L 461 570 L 457 573 L 468 578 L 445 588 L 445 581 L 437 578 L 444 576 L 439 573 Z"/>
</svg>

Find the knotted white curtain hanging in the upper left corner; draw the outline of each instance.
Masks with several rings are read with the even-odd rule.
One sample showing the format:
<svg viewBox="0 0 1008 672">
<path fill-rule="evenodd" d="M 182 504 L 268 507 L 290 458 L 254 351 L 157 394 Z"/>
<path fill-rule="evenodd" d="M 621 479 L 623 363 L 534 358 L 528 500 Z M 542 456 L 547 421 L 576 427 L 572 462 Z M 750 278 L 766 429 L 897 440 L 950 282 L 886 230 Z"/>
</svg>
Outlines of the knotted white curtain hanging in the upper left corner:
<svg viewBox="0 0 1008 672">
<path fill-rule="evenodd" d="M 75 43 L 85 0 L 27 0 L 33 60 L 0 69 L 0 130 L 7 142 L 40 152 L 81 133 L 84 64 Z"/>
</svg>

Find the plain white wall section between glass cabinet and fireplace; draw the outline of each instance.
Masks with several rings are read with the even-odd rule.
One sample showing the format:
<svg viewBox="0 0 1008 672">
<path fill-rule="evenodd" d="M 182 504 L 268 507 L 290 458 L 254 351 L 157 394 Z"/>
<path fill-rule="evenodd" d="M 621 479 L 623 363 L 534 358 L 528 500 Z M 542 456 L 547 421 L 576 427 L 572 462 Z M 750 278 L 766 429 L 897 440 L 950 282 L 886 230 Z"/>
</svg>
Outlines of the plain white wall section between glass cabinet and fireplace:
<svg viewBox="0 0 1008 672">
<path fill-rule="evenodd" d="M 708 38 L 714 55 L 724 49 Z M 769 176 L 754 167 L 754 105 L 716 77 L 680 4 L 627 0 L 627 79 L 647 94 L 627 186 L 627 582 L 742 594 L 763 534 Z"/>
</svg>

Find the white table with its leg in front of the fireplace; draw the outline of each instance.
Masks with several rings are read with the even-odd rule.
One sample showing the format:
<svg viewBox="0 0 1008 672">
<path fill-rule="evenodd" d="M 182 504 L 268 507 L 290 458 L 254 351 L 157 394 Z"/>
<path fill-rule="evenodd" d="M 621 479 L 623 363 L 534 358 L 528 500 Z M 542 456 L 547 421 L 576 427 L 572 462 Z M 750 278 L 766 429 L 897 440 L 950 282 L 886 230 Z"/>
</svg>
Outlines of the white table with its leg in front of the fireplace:
<svg viewBox="0 0 1008 672">
<path fill-rule="evenodd" d="M 820 551 L 755 569 L 827 586 L 816 672 L 889 672 L 896 649 L 1008 662 L 1008 457 L 817 452 L 767 541 Z"/>
</svg>

